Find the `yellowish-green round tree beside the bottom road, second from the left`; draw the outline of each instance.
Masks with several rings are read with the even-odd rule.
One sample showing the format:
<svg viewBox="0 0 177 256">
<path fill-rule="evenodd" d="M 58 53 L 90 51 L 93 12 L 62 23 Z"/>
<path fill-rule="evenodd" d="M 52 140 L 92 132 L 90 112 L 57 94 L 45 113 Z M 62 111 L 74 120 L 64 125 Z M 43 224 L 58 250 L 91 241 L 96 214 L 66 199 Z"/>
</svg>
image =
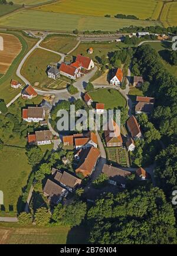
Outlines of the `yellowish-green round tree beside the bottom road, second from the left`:
<svg viewBox="0 0 177 256">
<path fill-rule="evenodd" d="M 38 226 L 46 226 L 50 223 L 50 212 L 45 207 L 38 208 L 35 213 L 35 223 Z"/>
</svg>

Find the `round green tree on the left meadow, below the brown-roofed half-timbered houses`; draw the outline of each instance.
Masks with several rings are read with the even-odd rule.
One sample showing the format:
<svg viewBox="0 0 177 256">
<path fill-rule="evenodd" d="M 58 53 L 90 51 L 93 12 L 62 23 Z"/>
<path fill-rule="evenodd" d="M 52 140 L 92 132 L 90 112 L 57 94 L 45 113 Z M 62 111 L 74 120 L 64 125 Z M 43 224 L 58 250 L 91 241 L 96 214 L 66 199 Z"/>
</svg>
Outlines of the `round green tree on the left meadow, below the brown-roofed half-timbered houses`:
<svg viewBox="0 0 177 256">
<path fill-rule="evenodd" d="M 34 146 L 27 151 L 28 162 L 34 166 L 41 162 L 43 154 L 38 146 Z"/>
</svg>

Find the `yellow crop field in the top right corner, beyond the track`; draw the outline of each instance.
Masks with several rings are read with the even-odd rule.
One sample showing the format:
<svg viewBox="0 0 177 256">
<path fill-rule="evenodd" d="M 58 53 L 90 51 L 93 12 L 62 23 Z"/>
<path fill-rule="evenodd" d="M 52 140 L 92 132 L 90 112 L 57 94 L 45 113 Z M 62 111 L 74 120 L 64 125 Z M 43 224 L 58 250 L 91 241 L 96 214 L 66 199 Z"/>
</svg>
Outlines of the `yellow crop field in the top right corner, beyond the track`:
<svg viewBox="0 0 177 256">
<path fill-rule="evenodd" d="M 170 2 L 164 5 L 160 21 L 165 27 L 177 25 L 177 2 Z"/>
</svg>

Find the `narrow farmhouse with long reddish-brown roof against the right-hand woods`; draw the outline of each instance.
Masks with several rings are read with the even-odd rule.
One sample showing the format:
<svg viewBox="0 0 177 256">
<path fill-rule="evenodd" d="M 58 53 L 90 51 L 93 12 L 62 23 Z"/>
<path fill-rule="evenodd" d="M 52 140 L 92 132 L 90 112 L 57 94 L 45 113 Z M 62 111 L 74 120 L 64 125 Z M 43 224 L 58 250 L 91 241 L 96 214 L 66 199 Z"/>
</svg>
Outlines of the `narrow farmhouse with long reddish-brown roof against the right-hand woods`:
<svg viewBox="0 0 177 256">
<path fill-rule="evenodd" d="M 135 116 L 131 116 L 127 120 L 127 127 L 129 129 L 129 132 L 131 133 L 133 139 L 140 139 L 142 137 L 142 133 L 140 131 L 140 126 L 137 123 Z"/>
</svg>

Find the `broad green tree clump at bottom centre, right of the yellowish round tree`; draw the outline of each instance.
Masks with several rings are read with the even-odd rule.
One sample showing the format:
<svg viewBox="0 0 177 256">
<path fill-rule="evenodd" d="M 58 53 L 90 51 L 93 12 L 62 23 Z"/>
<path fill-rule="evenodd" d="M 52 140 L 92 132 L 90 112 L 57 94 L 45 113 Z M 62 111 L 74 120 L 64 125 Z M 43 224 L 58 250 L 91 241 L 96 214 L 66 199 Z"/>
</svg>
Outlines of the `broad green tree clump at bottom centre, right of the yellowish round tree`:
<svg viewBox="0 0 177 256">
<path fill-rule="evenodd" d="M 53 219 L 57 223 L 63 223 L 65 225 L 78 226 L 86 215 L 86 203 L 76 201 L 68 206 L 58 204 L 54 208 Z"/>
</svg>

